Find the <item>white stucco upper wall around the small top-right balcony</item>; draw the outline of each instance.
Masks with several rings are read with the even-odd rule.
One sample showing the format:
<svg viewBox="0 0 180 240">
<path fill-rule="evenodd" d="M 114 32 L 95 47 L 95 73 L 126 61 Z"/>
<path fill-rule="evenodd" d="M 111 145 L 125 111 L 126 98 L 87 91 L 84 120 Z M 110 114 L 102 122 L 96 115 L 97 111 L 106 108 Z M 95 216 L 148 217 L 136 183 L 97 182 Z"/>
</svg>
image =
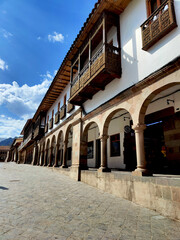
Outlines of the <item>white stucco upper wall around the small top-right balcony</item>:
<svg viewBox="0 0 180 240">
<path fill-rule="evenodd" d="M 174 0 L 177 25 L 180 26 L 180 1 Z M 90 112 L 128 87 L 158 70 L 180 55 L 180 28 L 164 36 L 148 51 L 142 50 L 140 25 L 147 19 L 146 1 L 133 0 L 120 15 L 122 76 L 109 83 L 84 103 Z M 108 41 L 110 36 L 108 36 Z"/>
</svg>

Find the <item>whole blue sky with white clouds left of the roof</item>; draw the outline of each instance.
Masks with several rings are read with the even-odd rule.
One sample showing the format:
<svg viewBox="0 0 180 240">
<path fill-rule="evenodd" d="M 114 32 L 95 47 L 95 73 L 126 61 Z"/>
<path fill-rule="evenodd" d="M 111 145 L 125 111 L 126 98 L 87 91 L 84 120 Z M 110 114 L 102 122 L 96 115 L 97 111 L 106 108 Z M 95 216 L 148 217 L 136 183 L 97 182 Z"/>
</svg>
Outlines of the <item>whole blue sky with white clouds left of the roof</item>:
<svg viewBox="0 0 180 240">
<path fill-rule="evenodd" d="M 0 138 L 18 136 L 97 0 L 0 0 Z"/>
</svg>

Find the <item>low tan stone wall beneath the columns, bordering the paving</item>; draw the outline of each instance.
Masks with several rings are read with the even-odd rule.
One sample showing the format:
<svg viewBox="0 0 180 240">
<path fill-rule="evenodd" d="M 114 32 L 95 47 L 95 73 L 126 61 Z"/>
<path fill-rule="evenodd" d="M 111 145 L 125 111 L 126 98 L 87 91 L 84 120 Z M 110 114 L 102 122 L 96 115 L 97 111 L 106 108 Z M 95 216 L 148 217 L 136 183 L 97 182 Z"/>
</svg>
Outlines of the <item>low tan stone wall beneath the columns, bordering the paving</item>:
<svg viewBox="0 0 180 240">
<path fill-rule="evenodd" d="M 81 181 L 180 220 L 180 178 L 137 177 L 123 172 L 83 170 Z"/>
</svg>

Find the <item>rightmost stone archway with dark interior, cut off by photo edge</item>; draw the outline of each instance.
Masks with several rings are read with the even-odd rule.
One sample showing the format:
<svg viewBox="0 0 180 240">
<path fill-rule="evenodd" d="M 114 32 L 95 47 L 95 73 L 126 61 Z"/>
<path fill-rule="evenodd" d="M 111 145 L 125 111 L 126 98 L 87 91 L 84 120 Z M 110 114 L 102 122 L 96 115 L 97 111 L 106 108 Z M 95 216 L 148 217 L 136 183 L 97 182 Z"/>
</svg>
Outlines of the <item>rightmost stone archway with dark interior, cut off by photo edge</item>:
<svg viewBox="0 0 180 240">
<path fill-rule="evenodd" d="M 176 109 L 176 102 L 180 96 L 180 82 L 162 84 L 153 89 L 143 99 L 137 121 L 146 126 L 146 165 L 153 173 L 179 174 L 180 112 Z"/>
</svg>

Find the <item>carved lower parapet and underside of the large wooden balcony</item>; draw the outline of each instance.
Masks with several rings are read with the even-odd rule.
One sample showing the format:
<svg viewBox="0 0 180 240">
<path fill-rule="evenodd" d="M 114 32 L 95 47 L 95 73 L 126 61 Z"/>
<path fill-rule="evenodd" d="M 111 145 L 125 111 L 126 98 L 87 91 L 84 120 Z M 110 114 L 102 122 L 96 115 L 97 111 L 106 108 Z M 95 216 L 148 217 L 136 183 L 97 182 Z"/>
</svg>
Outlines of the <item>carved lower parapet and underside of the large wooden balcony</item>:
<svg viewBox="0 0 180 240">
<path fill-rule="evenodd" d="M 114 78 L 120 77 L 120 49 L 104 44 L 73 80 L 69 102 L 81 105 L 99 90 L 104 90 Z"/>
</svg>

